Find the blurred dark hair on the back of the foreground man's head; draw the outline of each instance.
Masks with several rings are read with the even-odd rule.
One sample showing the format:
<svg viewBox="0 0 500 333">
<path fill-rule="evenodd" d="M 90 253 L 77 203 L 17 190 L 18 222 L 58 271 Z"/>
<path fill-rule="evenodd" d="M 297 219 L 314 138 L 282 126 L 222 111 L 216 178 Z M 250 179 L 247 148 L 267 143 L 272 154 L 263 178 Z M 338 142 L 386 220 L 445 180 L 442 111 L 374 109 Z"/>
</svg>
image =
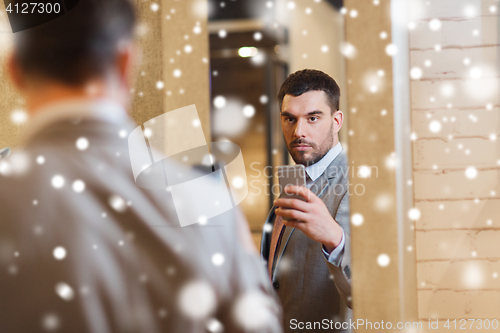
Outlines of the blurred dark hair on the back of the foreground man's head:
<svg viewBox="0 0 500 333">
<path fill-rule="evenodd" d="M 15 59 L 29 76 L 82 85 L 106 74 L 135 22 L 130 0 L 80 0 L 66 14 L 17 32 Z"/>
</svg>

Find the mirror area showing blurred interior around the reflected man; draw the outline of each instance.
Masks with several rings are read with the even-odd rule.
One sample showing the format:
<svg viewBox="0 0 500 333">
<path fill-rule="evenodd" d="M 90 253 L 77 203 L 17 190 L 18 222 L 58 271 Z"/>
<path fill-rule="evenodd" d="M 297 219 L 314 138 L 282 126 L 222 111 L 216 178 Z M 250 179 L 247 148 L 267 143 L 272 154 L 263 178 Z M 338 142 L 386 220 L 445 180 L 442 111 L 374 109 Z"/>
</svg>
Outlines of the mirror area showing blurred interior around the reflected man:
<svg viewBox="0 0 500 333">
<path fill-rule="evenodd" d="M 297 70 L 322 70 L 341 88 L 341 110 L 346 106 L 341 7 L 342 1 L 209 1 L 212 139 L 242 149 L 249 193 L 240 207 L 258 246 L 279 195 L 277 167 L 294 163 L 279 116 L 281 84 Z"/>
</svg>

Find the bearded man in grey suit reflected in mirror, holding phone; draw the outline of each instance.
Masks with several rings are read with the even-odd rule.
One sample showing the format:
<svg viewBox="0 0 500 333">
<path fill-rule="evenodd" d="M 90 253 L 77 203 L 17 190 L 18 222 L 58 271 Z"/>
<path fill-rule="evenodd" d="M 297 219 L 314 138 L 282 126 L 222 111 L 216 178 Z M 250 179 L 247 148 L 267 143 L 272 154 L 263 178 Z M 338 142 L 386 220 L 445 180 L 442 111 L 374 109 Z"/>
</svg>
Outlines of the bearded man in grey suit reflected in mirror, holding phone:
<svg viewBox="0 0 500 333">
<path fill-rule="evenodd" d="M 291 74 L 278 94 L 288 151 L 306 167 L 307 179 L 306 187 L 285 189 L 305 201 L 275 200 L 262 238 L 261 254 L 283 303 L 285 332 L 349 329 L 349 184 L 338 138 L 339 99 L 336 82 L 310 69 Z"/>
</svg>

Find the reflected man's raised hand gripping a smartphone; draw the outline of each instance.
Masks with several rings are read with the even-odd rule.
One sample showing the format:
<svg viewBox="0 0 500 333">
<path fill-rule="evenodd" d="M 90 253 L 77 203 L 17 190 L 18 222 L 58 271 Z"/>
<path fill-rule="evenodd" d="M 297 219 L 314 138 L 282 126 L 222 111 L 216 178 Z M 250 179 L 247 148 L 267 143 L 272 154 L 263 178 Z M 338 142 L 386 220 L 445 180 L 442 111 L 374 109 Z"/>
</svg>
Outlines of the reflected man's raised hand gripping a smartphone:
<svg viewBox="0 0 500 333">
<path fill-rule="evenodd" d="M 290 218 L 283 220 L 287 227 L 297 228 L 307 237 L 322 243 L 331 253 L 342 240 L 342 227 L 333 219 L 323 201 L 304 186 L 288 185 L 287 194 L 297 194 L 306 199 L 276 199 L 276 215 Z"/>
</svg>

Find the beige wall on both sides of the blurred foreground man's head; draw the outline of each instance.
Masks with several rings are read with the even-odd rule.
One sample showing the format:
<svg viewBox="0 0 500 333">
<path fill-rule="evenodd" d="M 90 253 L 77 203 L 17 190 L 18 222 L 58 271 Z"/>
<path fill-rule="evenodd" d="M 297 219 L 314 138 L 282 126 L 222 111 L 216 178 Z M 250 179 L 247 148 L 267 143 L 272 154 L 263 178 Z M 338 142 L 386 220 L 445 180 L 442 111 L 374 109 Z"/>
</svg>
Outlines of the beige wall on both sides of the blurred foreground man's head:
<svg viewBox="0 0 500 333">
<path fill-rule="evenodd" d="M 134 95 L 132 117 L 143 123 L 167 111 L 196 104 L 205 138 L 209 142 L 206 1 L 162 0 L 157 11 L 151 9 L 152 2 L 135 0 L 135 3 L 139 13 L 137 35 L 142 49 L 142 64 L 137 69 L 137 81 L 131 92 Z M 1 2 L 0 13 L 3 15 L 0 15 L 0 26 L 8 22 L 3 9 Z M 197 25 L 201 27 L 199 34 L 193 31 Z M 17 147 L 24 129 L 24 125 L 11 121 L 12 112 L 23 109 L 22 98 L 14 91 L 5 72 L 5 55 L 8 52 L 5 46 L 11 37 L 11 33 L 0 32 L 0 148 Z M 192 47 L 190 53 L 184 51 L 188 44 Z M 179 78 L 173 75 L 175 69 L 181 70 Z M 159 81 L 164 83 L 163 89 L 157 88 Z"/>
</svg>

